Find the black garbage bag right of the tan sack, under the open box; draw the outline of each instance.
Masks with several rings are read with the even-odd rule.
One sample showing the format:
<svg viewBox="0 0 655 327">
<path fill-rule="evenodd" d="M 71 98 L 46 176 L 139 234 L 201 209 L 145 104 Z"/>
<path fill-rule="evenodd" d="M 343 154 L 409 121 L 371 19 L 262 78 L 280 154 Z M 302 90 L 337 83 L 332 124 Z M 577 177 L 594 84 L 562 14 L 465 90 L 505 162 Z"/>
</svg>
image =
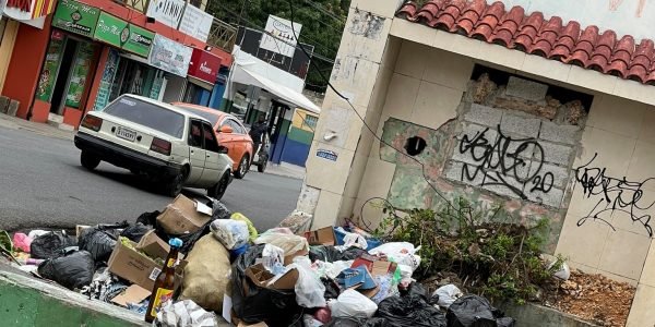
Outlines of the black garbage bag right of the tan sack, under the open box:
<svg viewBox="0 0 655 327">
<path fill-rule="evenodd" d="M 262 257 L 264 244 L 254 245 L 233 264 L 233 307 L 247 324 L 265 322 L 271 327 L 302 326 L 302 307 L 294 290 L 260 288 L 246 276 L 246 269 Z"/>
</svg>

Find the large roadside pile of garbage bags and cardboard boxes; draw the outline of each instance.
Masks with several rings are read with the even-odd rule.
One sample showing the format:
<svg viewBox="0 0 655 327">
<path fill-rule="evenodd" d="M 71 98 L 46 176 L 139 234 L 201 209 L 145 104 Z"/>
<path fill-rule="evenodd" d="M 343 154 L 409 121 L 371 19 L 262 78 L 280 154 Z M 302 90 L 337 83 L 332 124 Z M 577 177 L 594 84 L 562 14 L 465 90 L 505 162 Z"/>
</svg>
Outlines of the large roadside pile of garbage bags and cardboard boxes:
<svg viewBox="0 0 655 327">
<path fill-rule="evenodd" d="M 0 233 L 0 250 L 35 276 L 145 315 L 168 241 L 180 239 L 158 326 L 216 326 L 217 315 L 236 326 L 514 326 L 453 284 L 429 294 L 412 278 L 421 261 L 414 244 L 356 228 L 281 226 L 259 233 L 218 201 L 180 195 L 134 223 L 79 227 L 76 238 Z"/>
</svg>

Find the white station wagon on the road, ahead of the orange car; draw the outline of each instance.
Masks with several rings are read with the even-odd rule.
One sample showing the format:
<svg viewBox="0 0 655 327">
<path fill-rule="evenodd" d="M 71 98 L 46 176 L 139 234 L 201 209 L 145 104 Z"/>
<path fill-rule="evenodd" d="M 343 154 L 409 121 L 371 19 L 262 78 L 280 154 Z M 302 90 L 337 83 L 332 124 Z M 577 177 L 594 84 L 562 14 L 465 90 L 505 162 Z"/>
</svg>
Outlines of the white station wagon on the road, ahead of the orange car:
<svg viewBox="0 0 655 327">
<path fill-rule="evenodd" d="M 88 112 L 75 146 L 86 169 L 107 161 L 163 183 L 170 196 L 189 186 L 221 198 L 233 179 L 227 148 L 206 119 L 145 97 L 123 95 Z"/>
</svg>

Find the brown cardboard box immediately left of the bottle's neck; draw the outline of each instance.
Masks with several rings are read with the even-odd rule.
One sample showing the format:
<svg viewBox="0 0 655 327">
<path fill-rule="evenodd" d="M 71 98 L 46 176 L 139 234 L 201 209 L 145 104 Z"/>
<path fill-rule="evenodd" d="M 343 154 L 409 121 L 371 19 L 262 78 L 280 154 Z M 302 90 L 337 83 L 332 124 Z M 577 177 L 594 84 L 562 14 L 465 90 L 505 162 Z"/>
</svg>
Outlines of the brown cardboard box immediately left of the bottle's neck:
<svg viewBox="0 0 655 327">
<path fill-rule="evenodd" d="M 133 249 L 124 245 L 120 241 L 116 244 L 116 247 L 114 247 L 114 252 L 109 257 L 109 262 L 107 263 L 109 271 L 146 290 L 152 290 L 155 286 L 157 276 L 159 276 L 159 272 L 162 271 L 162 265 L 134 250 L 136 243 L 132 241 L 129 242 Z M 176 268 L 176 289 L 181 284 L 182 271 L 184 270 L 186 265 L 187 262 L 180 261 Z"/>
</svg>

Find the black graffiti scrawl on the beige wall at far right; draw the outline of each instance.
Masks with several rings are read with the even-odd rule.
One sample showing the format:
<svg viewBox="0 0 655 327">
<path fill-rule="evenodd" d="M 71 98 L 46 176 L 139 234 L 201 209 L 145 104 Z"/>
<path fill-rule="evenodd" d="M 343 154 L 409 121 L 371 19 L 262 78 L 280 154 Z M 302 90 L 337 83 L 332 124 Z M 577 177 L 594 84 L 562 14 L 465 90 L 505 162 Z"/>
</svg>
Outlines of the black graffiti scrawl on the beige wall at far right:
<svg viewBox="0 0 655 327">
<path fill-rule="evenodd" d="M 618 211 L 628 214 L 632 222 L 641 223 L 648 235 L 653 237 L 651 215 L 646 210 L 653 207 L 655 202 L 644 199 L 644 185 L 655 184 L 655 178 L 633 182 L 628 181 L 626 177 L 608 177 L 607 168 L 592 167 L 597 155 L 594 155 L 590 162 L 575 169 L 575 182 L 582 186 L 584 197 L 597 201 L 590 214 L 577 221 L 577 226 L 592 219 L 603 221 L 615 229 L 609 218 Z"/>
</svg>

